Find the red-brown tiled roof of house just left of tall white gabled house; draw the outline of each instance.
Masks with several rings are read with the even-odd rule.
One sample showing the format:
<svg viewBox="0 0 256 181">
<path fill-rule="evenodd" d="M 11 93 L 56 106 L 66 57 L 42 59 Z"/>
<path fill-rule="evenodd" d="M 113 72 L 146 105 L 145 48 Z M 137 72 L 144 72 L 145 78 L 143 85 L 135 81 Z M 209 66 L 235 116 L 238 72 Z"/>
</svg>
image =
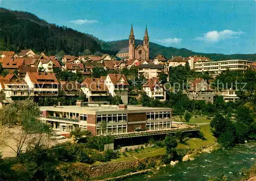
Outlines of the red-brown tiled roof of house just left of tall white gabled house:
<svg viewBox="0 0 256 181">
<path fill-rule="evenodd" d="M 81 84 L 86 86 L 91 91 L 109 91 L 108 87 L 101 81 L 100 78 L 86 78 Z"/>
</svg>

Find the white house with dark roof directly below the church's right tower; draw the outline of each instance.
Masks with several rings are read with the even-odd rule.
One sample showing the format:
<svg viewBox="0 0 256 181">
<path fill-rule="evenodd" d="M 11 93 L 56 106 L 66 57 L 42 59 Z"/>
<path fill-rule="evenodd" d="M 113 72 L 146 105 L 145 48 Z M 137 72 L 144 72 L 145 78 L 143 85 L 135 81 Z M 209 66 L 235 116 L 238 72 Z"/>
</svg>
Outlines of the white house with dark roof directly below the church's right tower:
<svg viewBox="0 0 256 181">
<path fill-rule="evenodd" d="M 163 72 L 164 65 L 158 64 L 140 64 L 139 65 L 139 71 L 138 76 L 144 75 L 145 78 L 152 78 L 152 77 L 158 77 L 158 75 Z"/>
</svg>

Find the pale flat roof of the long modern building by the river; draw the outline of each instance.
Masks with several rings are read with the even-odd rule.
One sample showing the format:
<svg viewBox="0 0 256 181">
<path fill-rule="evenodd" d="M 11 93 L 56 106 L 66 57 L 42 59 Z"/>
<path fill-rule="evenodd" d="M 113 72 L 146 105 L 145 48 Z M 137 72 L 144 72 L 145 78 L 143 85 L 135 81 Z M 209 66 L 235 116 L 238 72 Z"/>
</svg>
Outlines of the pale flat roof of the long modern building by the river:
<svg viewBox="0 0 256 181">
<path fill-rule="evenodd" d="M 126 114 L 139 112 L 170 112 L 172 109 L 163 107 L 142 107 L 135 105 L 98 105 L 96 103 L 88 106 L 42 106 L 41 111 L 75 112 L 79 114 L 108 115 Z"/>
</svg>

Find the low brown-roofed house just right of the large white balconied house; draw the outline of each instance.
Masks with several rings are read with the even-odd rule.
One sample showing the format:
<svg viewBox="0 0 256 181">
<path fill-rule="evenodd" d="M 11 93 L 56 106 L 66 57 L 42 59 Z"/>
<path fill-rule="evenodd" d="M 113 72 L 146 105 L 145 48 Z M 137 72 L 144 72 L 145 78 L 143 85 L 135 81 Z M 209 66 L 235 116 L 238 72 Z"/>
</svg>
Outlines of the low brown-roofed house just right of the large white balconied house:
<svg viewBox="0 0 256 181">
<path fill-rule="evenodd" d="M 60 81 L 59 96 L 78 96 L 80 85 L 77 81 Z"/>
</svg>

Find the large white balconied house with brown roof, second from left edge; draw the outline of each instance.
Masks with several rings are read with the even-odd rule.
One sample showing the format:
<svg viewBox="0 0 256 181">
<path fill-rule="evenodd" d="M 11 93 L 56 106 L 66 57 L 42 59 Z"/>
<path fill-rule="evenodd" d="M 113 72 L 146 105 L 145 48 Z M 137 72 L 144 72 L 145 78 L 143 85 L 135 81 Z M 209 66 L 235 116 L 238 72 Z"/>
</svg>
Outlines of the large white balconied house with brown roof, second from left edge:
<svg viewBox="0 0 256 181">
<path fill-rule="evenodd" d="M 59 82 L 54 73 L 27 72 L 24 80 L 33 90 L 31 96 L 58 96 Z"/>
</svg>

